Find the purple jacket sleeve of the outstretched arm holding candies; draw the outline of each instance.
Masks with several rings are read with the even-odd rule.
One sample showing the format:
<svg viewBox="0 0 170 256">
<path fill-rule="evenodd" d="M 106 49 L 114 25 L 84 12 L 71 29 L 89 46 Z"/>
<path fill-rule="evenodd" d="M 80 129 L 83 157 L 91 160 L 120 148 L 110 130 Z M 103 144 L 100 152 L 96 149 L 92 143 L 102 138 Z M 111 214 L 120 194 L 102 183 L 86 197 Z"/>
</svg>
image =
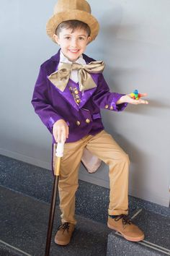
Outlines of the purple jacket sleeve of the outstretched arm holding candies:
<svg viewBox="0 0 170 256">
<path fill-rule="evenodd" d="M 111 93 L 103 74 L 99 74 L 97 90 L 94 93 L 94 102 L 99 108 L 105 108 L 112 111 L 123 111 L 128 103 L 116 104 L 117 101 L 125 94 Z"/>
</svg>

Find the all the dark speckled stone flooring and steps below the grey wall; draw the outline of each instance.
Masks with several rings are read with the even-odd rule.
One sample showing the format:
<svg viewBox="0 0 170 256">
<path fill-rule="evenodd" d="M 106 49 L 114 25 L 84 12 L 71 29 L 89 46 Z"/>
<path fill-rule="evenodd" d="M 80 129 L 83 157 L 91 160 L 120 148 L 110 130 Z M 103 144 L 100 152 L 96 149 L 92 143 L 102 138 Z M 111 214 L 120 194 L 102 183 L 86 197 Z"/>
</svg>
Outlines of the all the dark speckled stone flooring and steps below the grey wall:
<svg viewBox="0 0 170 256">
<path fill-rule="evenodd" d="M 4 208 L 0 255 L 43 255 L 53 176 L 46 169 L 4 155 L 0 155 L 0 169 L 0 207 Z M 144 242 L 128 242 L 107 229 L 109 189 L 79 181 L 73 239 L 66 247 L 52 242 L 51 255 L 170 255 L 170 209 L 135 197 L 129 197 L 129 202 L 130 216 L 146 234 Z M 56 216 L 53 237 L 60 224 L 59 209 Z"/>
</svg>

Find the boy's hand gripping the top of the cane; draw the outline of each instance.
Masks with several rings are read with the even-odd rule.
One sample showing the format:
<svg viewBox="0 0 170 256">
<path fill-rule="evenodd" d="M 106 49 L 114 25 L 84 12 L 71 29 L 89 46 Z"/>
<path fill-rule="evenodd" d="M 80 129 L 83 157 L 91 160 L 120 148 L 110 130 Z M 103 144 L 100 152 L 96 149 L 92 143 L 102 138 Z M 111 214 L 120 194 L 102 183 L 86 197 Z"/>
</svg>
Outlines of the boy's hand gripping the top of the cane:
<svg viewBox="0 0 170 256">
<path fill-rule="evenodd" d="M 66 121 L 59 119 L 53 124 L 53 136 L 56 142 L 65 142 L 68 138 L 69 128 Z"/>
</svg>

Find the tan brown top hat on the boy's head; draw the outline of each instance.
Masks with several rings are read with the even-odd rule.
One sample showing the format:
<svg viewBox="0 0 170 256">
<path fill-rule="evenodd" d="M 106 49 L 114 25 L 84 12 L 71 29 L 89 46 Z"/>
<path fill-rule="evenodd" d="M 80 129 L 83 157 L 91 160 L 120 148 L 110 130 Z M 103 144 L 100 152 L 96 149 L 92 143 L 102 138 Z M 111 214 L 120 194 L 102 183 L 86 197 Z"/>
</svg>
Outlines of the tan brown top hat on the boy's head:
<svg viewBox="0 0 170 256">
<path fill-rule="evenodd" d="M 80 20 L 89 25 L 91 40 L 94 40 L 99 33 L 99 23 L 91 15 L 91 8 L 86 0 L 58 0 L 54 7 L 53 17 L 46 25 L 47 34 L 55 42 L 53 35 L 61 22 L 66 20 Z M 90 43 L 89 42 L 89 43 Z"/>
</svg>

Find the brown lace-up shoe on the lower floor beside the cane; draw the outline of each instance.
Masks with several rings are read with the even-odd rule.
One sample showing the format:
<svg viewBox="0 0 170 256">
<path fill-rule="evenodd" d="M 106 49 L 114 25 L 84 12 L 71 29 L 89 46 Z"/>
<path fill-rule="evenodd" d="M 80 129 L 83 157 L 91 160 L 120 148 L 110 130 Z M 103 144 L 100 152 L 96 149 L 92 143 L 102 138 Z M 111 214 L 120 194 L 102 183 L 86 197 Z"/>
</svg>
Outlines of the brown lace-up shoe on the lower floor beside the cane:
<svg viewBox="0 0 170 256">
<path fill-rule="evenodd" d="M 66 245 L 71 241 L 75 225 L 73 223 L 65 222 L 58 227 L 58 231 L 55 235 L 55 244 Z"/>
</svg>

